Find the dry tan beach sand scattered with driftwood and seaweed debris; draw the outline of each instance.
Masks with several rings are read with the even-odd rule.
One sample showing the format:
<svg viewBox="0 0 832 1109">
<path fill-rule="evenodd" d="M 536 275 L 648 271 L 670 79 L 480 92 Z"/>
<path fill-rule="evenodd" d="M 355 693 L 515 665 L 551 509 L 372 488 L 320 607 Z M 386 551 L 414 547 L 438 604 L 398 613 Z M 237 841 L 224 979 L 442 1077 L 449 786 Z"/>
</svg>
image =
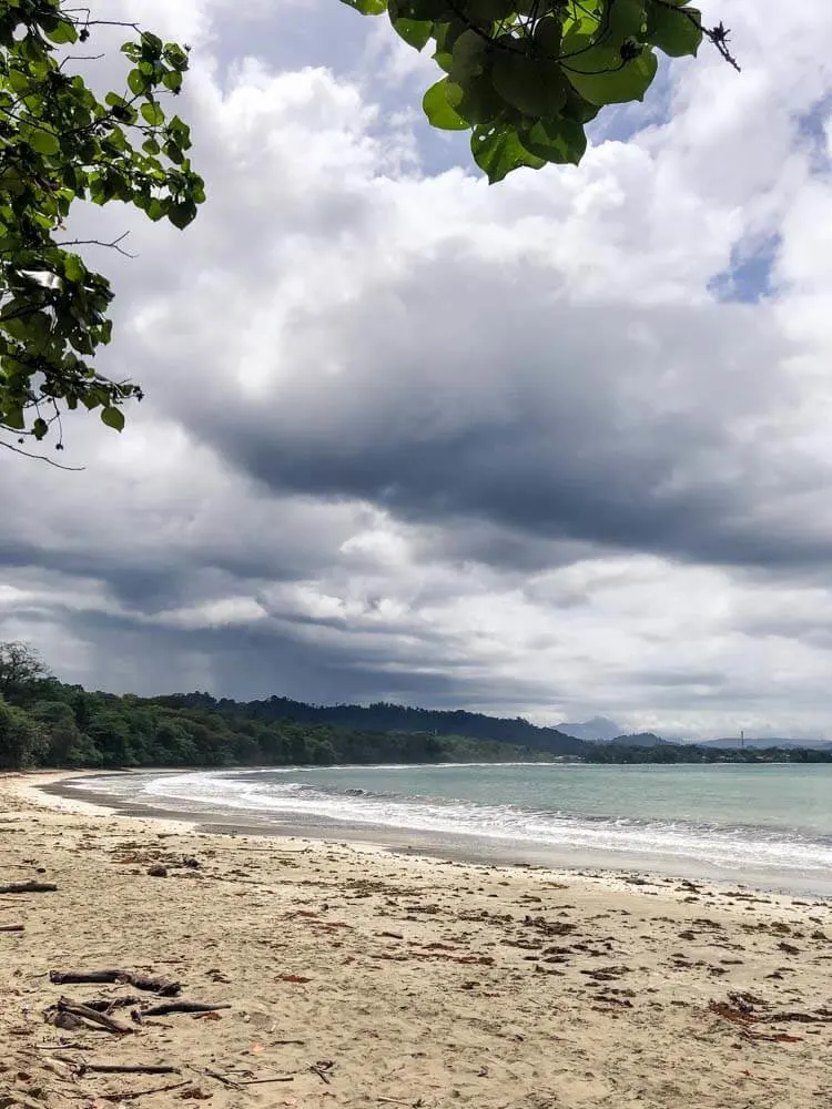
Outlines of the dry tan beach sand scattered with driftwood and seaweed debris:
<svg viewBox="0 0 832 1109">
<path fill-rule="evenodd" d="M 0 883 L 59 888 L 0 895 L 0 1109 L 832 1107 L 830 903 L 207 835 L 32 783 L 0 779 Z M 44 1021 L 136 993 L 49 979 L 108 967 L 226 1008 Z"/>
</svg>

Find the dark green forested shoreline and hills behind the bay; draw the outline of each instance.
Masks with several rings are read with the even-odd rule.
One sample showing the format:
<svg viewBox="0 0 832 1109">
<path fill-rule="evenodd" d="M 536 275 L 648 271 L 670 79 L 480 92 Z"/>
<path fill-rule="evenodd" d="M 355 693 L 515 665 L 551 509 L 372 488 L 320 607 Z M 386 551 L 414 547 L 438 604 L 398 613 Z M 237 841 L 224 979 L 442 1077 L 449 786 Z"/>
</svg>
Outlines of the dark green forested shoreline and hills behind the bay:
<svg viewBox="0 0 832 1109">
<path fill-rule="evenodd" d="M 591 763 L 832 762 L 832 751 L 587 743 L 528 721 L 394 704 L 321 706 L 207 693 L 115 696 L 65 685 L 0 643 L 0 769 L 253 766 L 582 759 Z"/>
</svg>

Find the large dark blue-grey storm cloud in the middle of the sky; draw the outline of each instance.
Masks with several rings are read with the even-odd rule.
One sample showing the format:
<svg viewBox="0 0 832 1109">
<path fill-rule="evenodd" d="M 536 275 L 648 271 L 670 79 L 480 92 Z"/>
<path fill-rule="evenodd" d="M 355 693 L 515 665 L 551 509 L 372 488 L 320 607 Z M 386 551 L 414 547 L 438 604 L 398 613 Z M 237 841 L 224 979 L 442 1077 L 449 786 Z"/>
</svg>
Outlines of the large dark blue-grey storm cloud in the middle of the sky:
<svg viewBox="0 0 832 1109">
<path fill-rule="evenodd" d="M 527 267 L 532 292 L 501 317 L 515 275 L 477 272 L 466 298 L 470 278 L 446 256 L 325 323 L 308 309 L 265 419 L 216 396 L 183 417 L 273 491 L 367 499 L 469 536 L 479 522 L 480 554 L 500 564 L 552 540 L 771 570 L 830 558 L 832 533 L 789 505 L 830 475 L 735 430 L 782 400 L 789 350 L 764 313 L 574 305 Z M 343 374 L 324 379 L 332 356 Z"/>
</svg>

